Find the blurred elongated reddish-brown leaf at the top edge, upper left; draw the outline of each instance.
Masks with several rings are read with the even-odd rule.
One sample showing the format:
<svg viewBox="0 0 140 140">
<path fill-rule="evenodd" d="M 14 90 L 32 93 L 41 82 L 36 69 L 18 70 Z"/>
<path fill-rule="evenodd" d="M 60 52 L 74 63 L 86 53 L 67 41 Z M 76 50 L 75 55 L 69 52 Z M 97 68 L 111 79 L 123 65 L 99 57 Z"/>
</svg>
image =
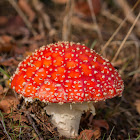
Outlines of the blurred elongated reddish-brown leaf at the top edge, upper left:
<svg viewBox="0 0 140 140">
<path fill-rule="evenodd" d="M 18 5 L 28 15 L 29 20 L 32 22 L 35 19 L 35 12 L 31 9 L 26 0 L 19 0 Z"/>
</svg>

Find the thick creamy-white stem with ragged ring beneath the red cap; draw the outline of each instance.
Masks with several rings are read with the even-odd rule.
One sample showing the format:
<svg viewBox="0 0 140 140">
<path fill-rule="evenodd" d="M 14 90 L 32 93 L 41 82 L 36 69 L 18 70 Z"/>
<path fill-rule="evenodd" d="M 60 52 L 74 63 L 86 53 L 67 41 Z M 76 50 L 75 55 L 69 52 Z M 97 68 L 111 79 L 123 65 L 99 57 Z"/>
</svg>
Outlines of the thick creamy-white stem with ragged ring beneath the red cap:
<svg viewBox="0 0 140 140">
<path fill-rule="evenodd" d="M 48 115 L 51 115 L 51 121 L 60 135 L 67 138 L 75 138 L 78 136 L 81 115 L 84 111 L 91 110 L 95 115 L 93 103 L 64 103 L 62 105 L 52 103 L 45 107 Z"/>
</svg>

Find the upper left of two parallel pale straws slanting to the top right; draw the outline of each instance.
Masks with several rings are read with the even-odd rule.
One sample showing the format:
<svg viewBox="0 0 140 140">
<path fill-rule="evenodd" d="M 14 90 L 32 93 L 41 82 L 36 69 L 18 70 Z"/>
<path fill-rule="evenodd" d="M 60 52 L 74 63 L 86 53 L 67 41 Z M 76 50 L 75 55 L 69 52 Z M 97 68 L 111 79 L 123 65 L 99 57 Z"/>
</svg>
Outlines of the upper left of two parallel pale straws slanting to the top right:
<svg viewBox="0 0 140 140">
<path fill-rule="evenodd" d="M 133 8 L 131 9 L 131 11 L 129 13 L 131 13 L 139 4 L 140 0 L 138 0 L 135 5 L 133 6 Z M 128 15 L 129 15 L 128 13 Z M 106 42 L 106 44 L 103 46 L 101 53 L 103 53 L 105 51 L 105 49 L 107 48 L 107 46 L 110 44 L 110 42 L 113 40 L 113 38 L 115 37 L 115 35 L 119 32 L 119 30 L 121 29 L 121 27 L 124 25 L 124 23 L 126 22 L 128 15 L 125 17 L 125 19 L 122 21 L 122 23 L 119 25 L 119 27 L 116 29 L 116 31 L 113 33 L 113 35 L 110 37 L 110 39 Z"/>
</svg>

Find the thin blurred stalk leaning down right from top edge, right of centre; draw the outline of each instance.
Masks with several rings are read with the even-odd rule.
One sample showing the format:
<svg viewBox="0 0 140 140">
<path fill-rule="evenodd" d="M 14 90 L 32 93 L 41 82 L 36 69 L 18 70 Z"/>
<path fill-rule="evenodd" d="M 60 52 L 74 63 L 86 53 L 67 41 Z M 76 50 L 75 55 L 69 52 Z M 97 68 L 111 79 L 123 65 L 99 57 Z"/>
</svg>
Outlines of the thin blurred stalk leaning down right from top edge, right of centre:
<svg viewBox="0 0 140 140">
<path fill-rule="evenodd" d="M 102 37 L 101 31 L 100 31 L 100 28 L 99 28 L 99 26 L 98 26 L 98 24 L 97 24 L 96 16 L 95 16 L 94 9 L 93 9 L 93 6 L 92 6 L 92 5 L 93 5 L 93 4 L 92 4 L 92 0 L 87 0 L 87 1 L 88 1 L 89 9 L 90 9 L 90 12 L 91 12 L 92 20 L 93 20 L 93 22 L 94 22 L 95 25 L 96 25 L 96 31 L 97 31 L 97 34 L 98 34 L 98 36 L 99 36 L 99 39 L 100 39 L 101 41 L 103 41 L 103 37 Z"/>
</svg>

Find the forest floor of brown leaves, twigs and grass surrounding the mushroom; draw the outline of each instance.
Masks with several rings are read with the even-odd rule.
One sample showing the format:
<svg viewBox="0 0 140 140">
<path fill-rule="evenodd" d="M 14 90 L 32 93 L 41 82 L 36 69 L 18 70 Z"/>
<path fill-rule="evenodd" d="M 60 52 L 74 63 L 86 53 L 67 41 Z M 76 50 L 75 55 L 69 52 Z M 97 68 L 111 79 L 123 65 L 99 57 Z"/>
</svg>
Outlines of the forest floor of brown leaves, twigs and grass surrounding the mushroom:
<svg viewBox="0 0 140 140">
<path fill-rule="evenodd" d="M 82 115 L 76 139 L 140 139 L 140 1 L 82 2 L 0 1 L 1 140 L 66 139 L 51 124 L 45 103 L 25 103 L 9 84 L 19 62 L 42 45 L 62 40 L 93 48 L 112 62 L 125 85 L 122 97 L 95 103 L 96 116 Z M 88 2 L 97 2 L 94 11 Z"/>
</svg>

